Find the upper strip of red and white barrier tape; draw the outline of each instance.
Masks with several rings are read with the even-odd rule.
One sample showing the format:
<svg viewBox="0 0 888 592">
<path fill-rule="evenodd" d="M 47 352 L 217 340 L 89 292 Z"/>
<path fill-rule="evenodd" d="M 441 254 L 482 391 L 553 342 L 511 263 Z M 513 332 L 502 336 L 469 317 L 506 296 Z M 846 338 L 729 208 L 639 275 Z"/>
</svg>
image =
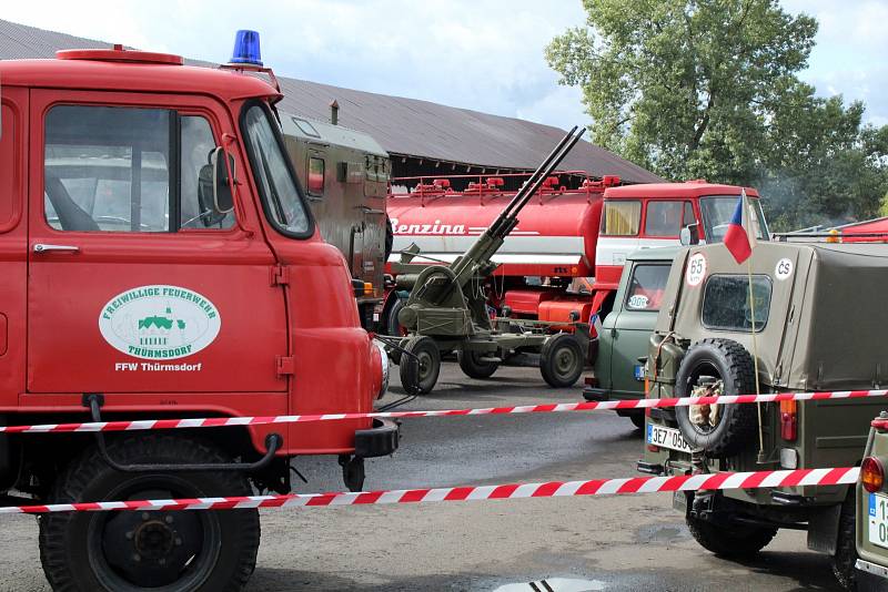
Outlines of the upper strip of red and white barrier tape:
<svg viewBox="0 0 888 592">
<path fill-rule="evenodd" d="M 648 409 L 653 407 L 688 407 L 690 405 L 734 405 L 748 402 L 807 401 L 824 399 L 858 399 L 885 397 L 888 389 L 837 390 L 825 392 L 777 392 L 766 395 L 723 395 L 720 397 L 682 397 L 670 399 L 637 399 L 622 401 L 559 402 L 514 407 L 482 407 L 476 409 L 440 409 L 433 411 L 376 411 L 366 414 L 321 414 L 266 417 L 204 417 L 191 419 L 139 419 L 131 421 L 84 421 L 74 423 L 42 423 L 36 426 L 0 426 L 6 433 L 47 433 L 72 431 L 140 431 L 184 428 L 218 428 L 229 426 L 264 426 L 270 423 L 302 423 L 342 419 L 406 417 L 447 417 L 509 414 L 558 414 L 565 411 L 605 411 L 615 409 Z M 887 404 L 888 405 L 888 404 Z"/>
</svg>

